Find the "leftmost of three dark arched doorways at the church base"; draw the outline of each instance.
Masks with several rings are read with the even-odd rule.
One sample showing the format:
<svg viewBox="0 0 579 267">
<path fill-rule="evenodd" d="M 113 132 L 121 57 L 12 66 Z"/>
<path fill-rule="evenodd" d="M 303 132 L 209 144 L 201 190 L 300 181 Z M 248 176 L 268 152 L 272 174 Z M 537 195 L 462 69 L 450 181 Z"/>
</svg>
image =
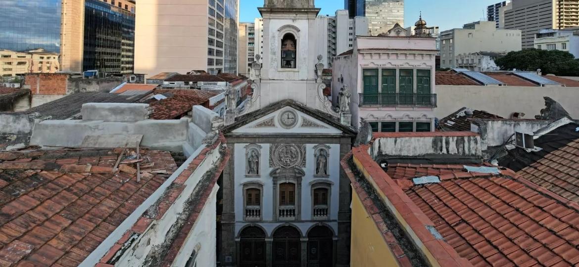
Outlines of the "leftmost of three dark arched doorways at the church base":
<svg viewBox="0 0 579 267">
<path fill-rule="evenodd" d="M 241 267 L 265 267 L 265 232 L 259 227 L 247 227 L 241 231 L 239 241 L 239 265 Z"/>
</svg>

